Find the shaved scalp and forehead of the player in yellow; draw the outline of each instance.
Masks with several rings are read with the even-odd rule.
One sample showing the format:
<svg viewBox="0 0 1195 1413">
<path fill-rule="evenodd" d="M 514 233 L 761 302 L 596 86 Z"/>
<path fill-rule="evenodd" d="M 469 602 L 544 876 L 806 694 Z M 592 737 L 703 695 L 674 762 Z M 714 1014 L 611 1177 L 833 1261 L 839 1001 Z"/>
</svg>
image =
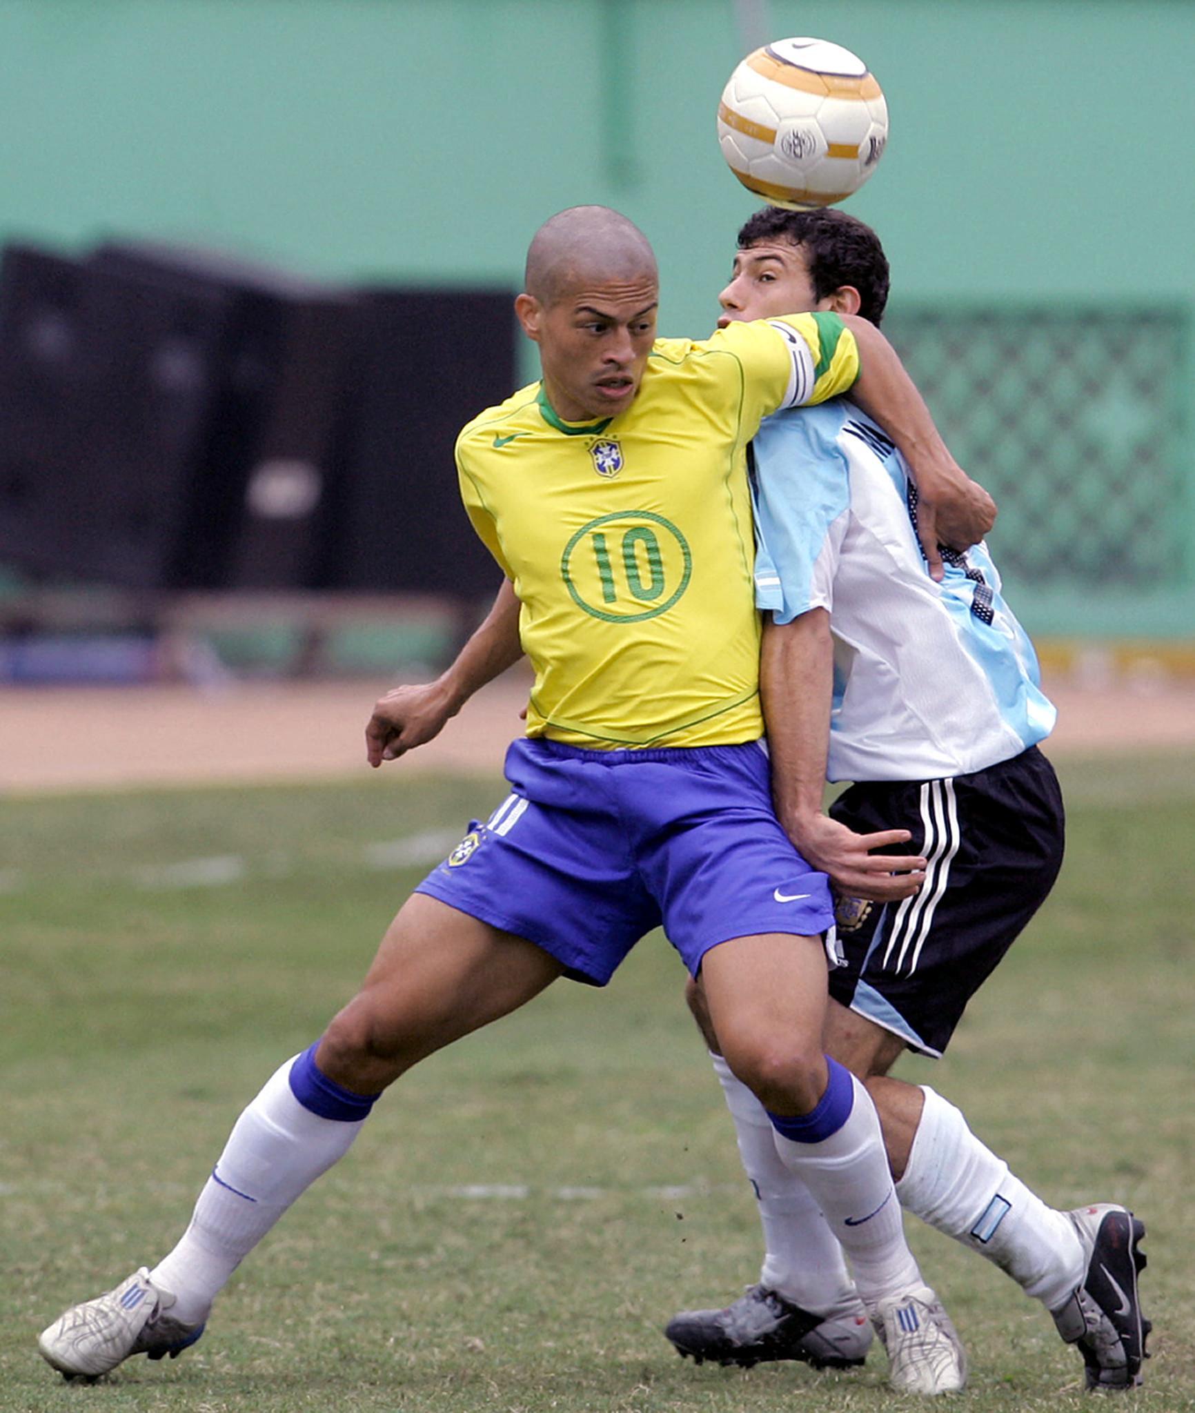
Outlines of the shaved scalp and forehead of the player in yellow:
<svg viewBox="0 0 1195 1413">
<path fill-rule="evenodd" d="M 609 206 L 569 206 L 535 232 L 524 288 L 551 307 L 579 284 L 658 278 L 651 242 L 634 222 Z"/>
</svg>

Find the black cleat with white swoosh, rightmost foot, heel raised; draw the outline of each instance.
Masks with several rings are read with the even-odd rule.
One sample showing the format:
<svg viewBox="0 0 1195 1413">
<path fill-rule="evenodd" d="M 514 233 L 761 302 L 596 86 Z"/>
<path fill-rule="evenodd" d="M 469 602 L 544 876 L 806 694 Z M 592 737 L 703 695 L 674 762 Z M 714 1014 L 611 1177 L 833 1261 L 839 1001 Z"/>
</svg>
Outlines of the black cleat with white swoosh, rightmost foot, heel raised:
<svg viewBox="0 0 1195 1413">
<path fill-rule="evenodd" d="M 1138 1248 L 1144 1222 L 1110 1202 L 1078 1207 L 1066 1215 L 1083 1245 L 1086 1273 L 1069 1300 L 1052 1311 L 1054 1324 L 1082 1354 L 1089 1389 L 1136 1388 L 1153 1330 L 1137 1293 L 1137 1277 L 1146 1269 L 1146 1253 Z"/>
</svg>

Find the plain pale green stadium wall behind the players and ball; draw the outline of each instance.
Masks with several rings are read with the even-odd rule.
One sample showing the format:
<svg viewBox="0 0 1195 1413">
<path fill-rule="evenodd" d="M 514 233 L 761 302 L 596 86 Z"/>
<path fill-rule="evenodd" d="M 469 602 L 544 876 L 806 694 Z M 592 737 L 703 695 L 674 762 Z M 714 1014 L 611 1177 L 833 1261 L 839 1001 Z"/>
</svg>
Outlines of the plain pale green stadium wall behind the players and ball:
<svg viewBox="0 0 1195 1413">
<path fill-rule="evenodd" d="M 1195 6 L 742 8 L 764 10 L 777 35 L 846 44 L 880 78 L 891 141 L 850 209 L 884 237 L 896 315 L 1195 305 Z M 753 209 L 713 134 L 754 38 L 737 13 L 730 0 L 0 0 L 0 236 L 151 235 L 338 280 L 511 287 L 544 216 L 607 202 L 657 244 L 664 331 L 701 335 Z M 1175 373 L 1179 421 L 1191 376 Z M 1137 586 L 1144 619 L 1117 598 L 1130 626 L 1170 634 L 1195 622 L 1185 438 L 1179 454 L 1175 578 L 1151 606 Z M 1116 619 L 1092 605 L 1064 593 L 1051 629 Z"/>
</svg>

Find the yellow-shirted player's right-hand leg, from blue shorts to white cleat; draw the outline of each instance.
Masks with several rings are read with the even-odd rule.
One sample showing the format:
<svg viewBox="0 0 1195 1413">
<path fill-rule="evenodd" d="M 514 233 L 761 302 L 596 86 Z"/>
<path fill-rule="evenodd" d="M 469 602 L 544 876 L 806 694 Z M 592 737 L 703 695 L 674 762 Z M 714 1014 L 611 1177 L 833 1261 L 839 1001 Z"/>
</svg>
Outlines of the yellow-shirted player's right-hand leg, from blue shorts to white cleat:
<svg viewBox="0 0 1195 1413">
<path fill-rule="evenodd" d="M 709 1023 L 726 1065 L 767 1111 L 775 1152 L 850 1258 L 888 1348 L 893 1385 L 952 1392 L 966 1382 L 966 1358 L 905 1245 L 873 1104 L 822 1051 L 825 981 L 816 938 L 739 938 L 702 962 Z"/>
</svg>

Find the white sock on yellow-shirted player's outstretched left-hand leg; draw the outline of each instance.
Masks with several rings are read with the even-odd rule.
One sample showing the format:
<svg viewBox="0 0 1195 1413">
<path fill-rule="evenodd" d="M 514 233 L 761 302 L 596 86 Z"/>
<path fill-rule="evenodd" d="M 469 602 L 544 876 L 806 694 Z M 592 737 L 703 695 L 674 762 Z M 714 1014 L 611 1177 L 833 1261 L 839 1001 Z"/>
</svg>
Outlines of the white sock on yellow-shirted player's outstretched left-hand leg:
<svg viewBox="0 0 1195 1413">
<path fill-rule="evenodd" d="M 360 1122 L 322 1119 L 291 1092 L 294 1060 L 278 1070 L 236 1121 L 191 1225 L 150 1272 L 171 1291 L 171 1316 L 199 1324 L 240 1260 L 283 1212 L 347 1153 Z"/>
</svg>

